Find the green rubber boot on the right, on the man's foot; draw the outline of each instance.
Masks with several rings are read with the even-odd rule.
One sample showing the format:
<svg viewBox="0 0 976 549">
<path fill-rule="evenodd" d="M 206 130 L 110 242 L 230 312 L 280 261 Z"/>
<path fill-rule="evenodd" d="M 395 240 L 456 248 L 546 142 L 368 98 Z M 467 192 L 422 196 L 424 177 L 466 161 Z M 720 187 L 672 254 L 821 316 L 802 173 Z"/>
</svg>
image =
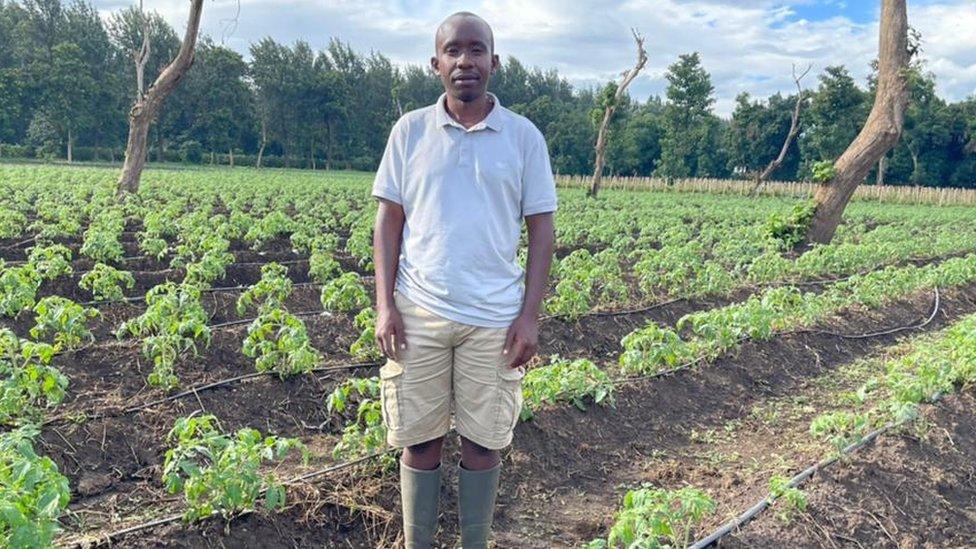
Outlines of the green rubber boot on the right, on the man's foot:
<svg viewBox="0 0 976 549">
<path fill-rule="evenodd" d="M 461 521 L 463 549 L 488 547 L 501 470 L 501 463 L 486 471 L 469 471 L 463 466 L 458 467 L 458 518 Z"/>
</svg>

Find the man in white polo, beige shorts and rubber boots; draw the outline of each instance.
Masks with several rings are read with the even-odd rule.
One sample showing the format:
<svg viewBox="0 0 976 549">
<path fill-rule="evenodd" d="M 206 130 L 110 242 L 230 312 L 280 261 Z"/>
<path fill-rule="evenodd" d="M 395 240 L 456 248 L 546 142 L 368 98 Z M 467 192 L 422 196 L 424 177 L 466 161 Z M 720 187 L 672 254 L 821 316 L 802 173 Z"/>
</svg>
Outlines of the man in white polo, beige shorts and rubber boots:
<svg viewBox="0 0 976 549">
<path fill-rule="evenodd" d="M 394 125 L 373 185 L 376 340 L 383 418 L 400 461 L 404 539 L 437 530 L 441 448 L 461 437 L 458 515 L 466 549 L 486 547 L 500 471 L 535 355 L 553 252 L 555 183 L 545 139 L 487 93 L 491 28 L 459 12 L 437 29 L 435 105 Z M 522 219 L 526 272 L 516 256 Z"/>
</svg>

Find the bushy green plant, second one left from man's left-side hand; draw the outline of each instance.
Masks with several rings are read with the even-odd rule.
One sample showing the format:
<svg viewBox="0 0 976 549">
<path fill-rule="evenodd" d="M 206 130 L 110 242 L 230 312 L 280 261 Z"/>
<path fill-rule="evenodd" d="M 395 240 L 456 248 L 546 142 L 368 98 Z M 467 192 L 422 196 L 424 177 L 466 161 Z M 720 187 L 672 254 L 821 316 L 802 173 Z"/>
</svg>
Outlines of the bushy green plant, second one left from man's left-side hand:
<svg viewBox="0 0 976 549">
<path fill-rule="evenodd" d="M 255 359 L 259 372 L 275 372 L 281 378 L 310 372 L 322 362 L 305 323 L 279 308 L 261 309 L 247 329 L 243 352 Z"/>
</svg>

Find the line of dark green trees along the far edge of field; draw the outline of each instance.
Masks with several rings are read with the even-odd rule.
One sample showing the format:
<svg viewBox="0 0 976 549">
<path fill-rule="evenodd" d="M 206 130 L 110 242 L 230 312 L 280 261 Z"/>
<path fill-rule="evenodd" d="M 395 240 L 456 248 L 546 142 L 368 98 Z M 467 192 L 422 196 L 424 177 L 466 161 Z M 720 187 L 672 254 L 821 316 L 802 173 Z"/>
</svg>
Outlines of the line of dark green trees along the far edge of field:
<svg viewBox="0 0 976 549">
<path fill-rule="evenodd" d="M 0 0 L 0 156 L 119 160 L 143 29 L 151 83 L 180 46 L 157 13 L 127 8 L 103 21 L 82 0 Z M 393 122 L 443 91 L 424 65 L 398 67 L 335 38 L 316 51 L 267 37 L 251 44 L 249 57 L 201 38 L 193 66 L 151 126 L 150 161 L 371 170 Z M 698 53 L 679 56 L 666 78 L 664 97 L 616 101 L 606 173 L 752 177 L 779 154 L 799 99 L 798 137 L 771 178 L 809 179 L 857 135 L 876 86 L 874 76 L 862 87 L 845 67 L 830 66 L 799 98 L 742 93 L 722 118 Z M 542 130 L 555 171 L 590 174 L 615 86 L 574 88 L 555 70 L 508 57 L 489 89 Z M 917 63 L 909 86 L 901 138 L 869 181 L 976 187 L 976 97 L 940 98 Z"/>
</svg>

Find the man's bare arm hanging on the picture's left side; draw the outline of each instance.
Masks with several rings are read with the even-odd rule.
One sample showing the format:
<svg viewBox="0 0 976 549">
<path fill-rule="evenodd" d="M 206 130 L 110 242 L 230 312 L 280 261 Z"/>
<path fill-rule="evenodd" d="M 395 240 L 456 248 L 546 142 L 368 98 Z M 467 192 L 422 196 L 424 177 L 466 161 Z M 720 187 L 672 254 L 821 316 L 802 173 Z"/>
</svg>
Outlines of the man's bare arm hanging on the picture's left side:
<svg viewBox="0 0 976 549">
<path fill-rule="evenodd" d="M 399 350 L 407 347 L 403 319 L 393 300 L 397 266 L 400 262 L 400 240 L 405 215 L 403 206 L 379 199 L 379 211 L 373 226 L 373 265 L 376 270 L 376 343 L 387 358 L 396 360 Z"/>
</svg>

